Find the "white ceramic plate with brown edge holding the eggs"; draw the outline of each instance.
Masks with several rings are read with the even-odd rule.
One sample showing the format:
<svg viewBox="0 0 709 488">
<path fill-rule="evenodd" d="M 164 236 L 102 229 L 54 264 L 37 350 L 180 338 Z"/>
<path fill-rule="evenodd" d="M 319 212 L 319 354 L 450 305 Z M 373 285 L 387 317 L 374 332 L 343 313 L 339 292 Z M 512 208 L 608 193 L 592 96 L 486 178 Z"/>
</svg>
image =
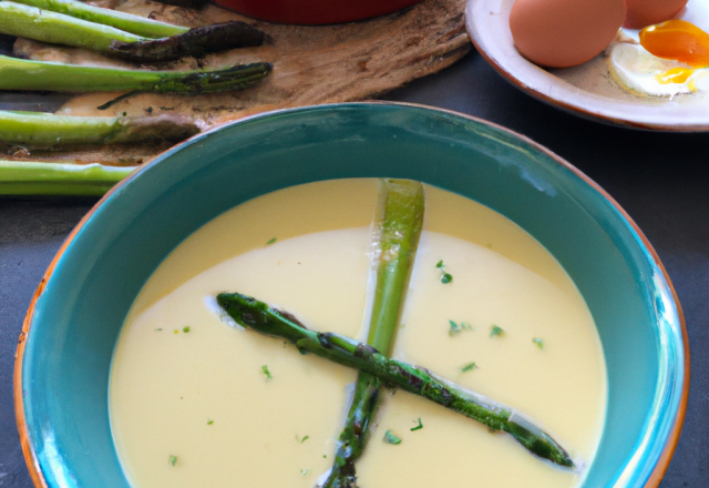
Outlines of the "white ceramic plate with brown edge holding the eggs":
<svg viewBox="0 0 709 488">
<path fill-rule="evenodd" d="M 522 58 L 510 32 L 513 3 L 514 0 L 469 0 L 465 16 L 477 51 L 520 90 L 599 122 L 657 131 L 709 131 L 709 96 L 678 95 L 669 100 L 631 95 L 609 78 L 604 54 L 579 67 L 554 70 Z M 689 0 L 677 18 L 709 30 L 709 2 Z"/>
</svg>

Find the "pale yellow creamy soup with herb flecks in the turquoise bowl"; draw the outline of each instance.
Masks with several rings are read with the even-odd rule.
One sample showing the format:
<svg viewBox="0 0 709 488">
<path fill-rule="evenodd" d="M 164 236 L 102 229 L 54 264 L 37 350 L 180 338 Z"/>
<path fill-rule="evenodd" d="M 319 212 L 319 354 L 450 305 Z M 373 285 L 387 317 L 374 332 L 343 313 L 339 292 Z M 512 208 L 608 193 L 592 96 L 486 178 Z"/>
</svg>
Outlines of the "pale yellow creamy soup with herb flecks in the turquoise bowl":
<svg viewBox="0 0 709 488">
<path fill-rule="evenodd" d="M 310 328 L 361 339 L 377 191 L 376 180 L 346 180 L 260 196 L 204 225 L 160 265 L 125 321 L 111 373 L 113 437 L 135 487 L 307 488 L 330 468 L 356 372 L 230 326 L 214 297 L 248 294 Z M 394 356 L 521 410 L 587 467 L 606 372 L 584 299 L 517 225 L 425 191 Z M 441 282 L 441 260 L 451 283 Z M 466 326 L 451 334 L 450 321 Z M 491 337 L 493 326 L 504 333 Z M 583 480 L 584 469 L 554 467 L 431 401 L 382 397 L 357 464 L 362 488 Z M 387 430 L 401 444 L 384 441 Z"/>
</svg>

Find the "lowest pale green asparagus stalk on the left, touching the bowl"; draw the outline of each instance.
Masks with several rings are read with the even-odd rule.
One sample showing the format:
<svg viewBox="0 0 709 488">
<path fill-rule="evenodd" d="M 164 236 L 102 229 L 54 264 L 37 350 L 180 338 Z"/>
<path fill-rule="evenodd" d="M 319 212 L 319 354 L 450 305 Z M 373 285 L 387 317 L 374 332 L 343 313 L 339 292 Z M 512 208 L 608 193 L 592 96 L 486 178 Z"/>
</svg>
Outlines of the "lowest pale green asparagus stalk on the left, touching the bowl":
<svg viewBox="0 0 709 488">
<path fill-rule="evenodd" d="M 0 161 L 0 195 L 101 196 L 135 166 Z"/>
</svg>

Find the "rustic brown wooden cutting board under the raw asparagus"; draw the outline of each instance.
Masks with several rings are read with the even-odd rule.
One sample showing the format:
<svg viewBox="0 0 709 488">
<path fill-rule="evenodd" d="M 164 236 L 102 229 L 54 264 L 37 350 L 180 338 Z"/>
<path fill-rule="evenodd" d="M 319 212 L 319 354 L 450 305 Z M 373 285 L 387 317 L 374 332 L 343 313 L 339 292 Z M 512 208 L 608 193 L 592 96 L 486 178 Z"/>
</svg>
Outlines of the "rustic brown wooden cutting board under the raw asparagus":
<svg viewBox="0 0 709 488">
<path fill-rule="evenodd" d="M 260 85 L 244 91 L 203 95 L 142 93 L 103 111 L 96 108 L 121 93 L 88 93 L 70 99 L 56 113 L 147 116 L 179 113 L 206 129 L 269 110 L 374 99 L 411 80 L 442 70 L 471 48 L 463 13 L 465 0 L 425 0 L 393 14 L 321 27 L 259 22 L 214 6 L 202 11 L 146 0 L 104 6 L 189 27 L 244 20 L 259 27 L 268 35 L 266 43 L 259 48 L 216 53 L 199 61 L 185 59 L 150 69 L 189 70 L 268 61 L 274 70 Z M 42 61 L 136 67 L 79 48 L 24 39 L 16 42 L 13 53 Z M 21 152 L 16 157 L 140 164 L 165 149 L 164 145 L 66 148 L 54 152 Z"/>
</svg>

